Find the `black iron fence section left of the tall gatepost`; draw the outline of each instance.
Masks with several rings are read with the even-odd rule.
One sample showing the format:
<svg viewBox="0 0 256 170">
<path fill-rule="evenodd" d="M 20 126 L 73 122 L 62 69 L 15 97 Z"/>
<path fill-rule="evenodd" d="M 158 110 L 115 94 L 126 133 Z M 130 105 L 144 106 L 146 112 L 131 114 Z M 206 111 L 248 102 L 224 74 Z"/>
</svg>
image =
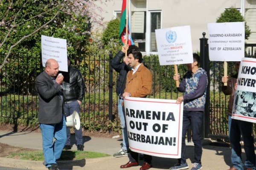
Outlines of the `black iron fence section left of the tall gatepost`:
<svg viewBox="0 0 256 170">
<path fill-rule="evenodd" d="M 109 56 L 92 55 L 86 59 L 70 57 L 71 65 L 79 68 L 85 80 L 85 95 L 81 104 L 81 124 L 90 130 L 108 130 L 110 122 L 119 126 L 118 97 L 115 93 L 118 74 Z M 1 57 L 3 59 L 3 56 Z M 0 70 L 0 122 L 15 125 L 37 125 L 38 96 L 35 79 L 44 69 L 40 54 L 18 54 Z M 2 62 L 2 61 L 0 61 Z M 157 56 L 144 57 L 152 72 L 153 88 L 148 97 L 177 99 L 172 80 L 173 66 L 160 66 Z M 181 69 L 180 74 L 184 74 Z"/>
</svg>

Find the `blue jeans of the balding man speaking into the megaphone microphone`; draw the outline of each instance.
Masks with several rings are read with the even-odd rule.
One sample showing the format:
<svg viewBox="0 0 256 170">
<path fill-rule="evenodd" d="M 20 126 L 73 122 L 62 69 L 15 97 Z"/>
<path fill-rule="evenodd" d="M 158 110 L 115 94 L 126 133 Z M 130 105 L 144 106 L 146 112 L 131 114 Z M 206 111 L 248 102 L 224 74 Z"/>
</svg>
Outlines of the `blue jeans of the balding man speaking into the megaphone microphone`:
<svg viewBox="0 0 256 170">
<path fill-rule="evenodd" d="M 61 157 L 62 149 L 67 140 L 66 122 L 63 119 L 55 124 L 39 124 L 42 139 L 43 139 L 43 152 L 46 167 L 51 167 L 51 164 L 56 164 L 56 159 Z M 53 142 L 53 138 L 55 141 Z"/>
</svg>

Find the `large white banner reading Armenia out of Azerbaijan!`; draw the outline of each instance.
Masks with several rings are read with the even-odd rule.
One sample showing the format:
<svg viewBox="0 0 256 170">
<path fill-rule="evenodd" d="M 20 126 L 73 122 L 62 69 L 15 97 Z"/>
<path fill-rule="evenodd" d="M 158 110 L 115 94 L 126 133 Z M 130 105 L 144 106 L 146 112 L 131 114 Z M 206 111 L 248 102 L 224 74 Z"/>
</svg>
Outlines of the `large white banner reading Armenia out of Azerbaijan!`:
<svg viewBox="0 0 256 170">
<path fill-rule="evenodd" d="M 183 102 L 124 98 L 130 149 L 166 158 L 180 158 Z"/>
</svg>

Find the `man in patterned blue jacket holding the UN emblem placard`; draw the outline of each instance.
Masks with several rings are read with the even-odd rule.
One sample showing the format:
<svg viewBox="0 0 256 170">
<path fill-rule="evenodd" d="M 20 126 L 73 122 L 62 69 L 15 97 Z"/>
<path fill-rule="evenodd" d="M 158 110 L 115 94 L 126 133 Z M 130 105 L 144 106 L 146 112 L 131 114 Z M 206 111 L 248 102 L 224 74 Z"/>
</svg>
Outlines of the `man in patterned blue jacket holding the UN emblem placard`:
<svg viewBox="0 0 256 170">
<path fill-rule="evenodd" d="M 183 96 L 177 98 L 177 103 L 184 102 L 183 106 L 183 125 L 182 125 L 182 145 L 181 158 L 177 164 L 170 167 L 170 170 L 185 170 L 189 166 L 186 163 L 186 131 L 191 125 L 192 141 L 195 145 L 194 164 L 191 170 L 201 170 L 202 144 L 201 144 L 201 129 L 204 117 L 204 105 L 206 100 L 207 89 L 207 74 L 202 68 L 198 68 L 199 56 L 193 54 L 194 62 L 187 64 L 188 72 L 183 76 L 178 91 L 183 92 Z M 173 79 L 179 80 L 180 75 L 175 74 Z"/>
</svg>

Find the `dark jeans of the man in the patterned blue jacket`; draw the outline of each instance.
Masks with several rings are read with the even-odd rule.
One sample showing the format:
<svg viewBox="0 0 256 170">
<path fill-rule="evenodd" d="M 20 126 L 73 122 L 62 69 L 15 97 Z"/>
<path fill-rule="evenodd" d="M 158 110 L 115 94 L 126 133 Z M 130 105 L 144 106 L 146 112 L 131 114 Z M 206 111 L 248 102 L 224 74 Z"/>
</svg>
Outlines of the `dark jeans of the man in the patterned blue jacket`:
<svg viewBox="0 0 256 170">
<path fill-rule="evenodd" d="M 182 125 L 182 144 L 181 144 L 181 158 L 178 159 L 180 164 L 186 163 L 186 132 L 191 125 L 192 141 L 194 143 L 195 155 L 194 163 L 201 164 L 202 144 L 201 144 L 201 129 L 203 125 L 202 111 L 183 111 L 183 125 Z"/>
</svg>

